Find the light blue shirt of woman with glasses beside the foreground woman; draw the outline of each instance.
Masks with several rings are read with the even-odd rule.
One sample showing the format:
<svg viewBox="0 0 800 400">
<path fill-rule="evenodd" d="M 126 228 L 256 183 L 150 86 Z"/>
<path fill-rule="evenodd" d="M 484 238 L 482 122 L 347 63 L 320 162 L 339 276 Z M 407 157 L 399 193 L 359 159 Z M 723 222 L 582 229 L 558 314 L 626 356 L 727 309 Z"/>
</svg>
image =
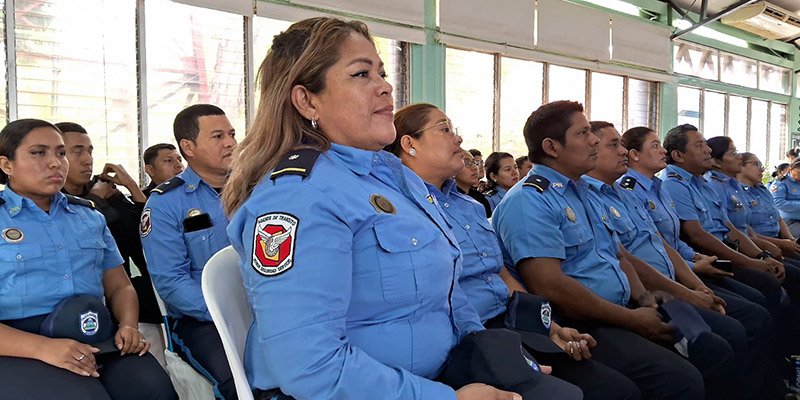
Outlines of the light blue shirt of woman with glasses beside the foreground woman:
<svg viewBox="0 0 800 400">
<path fill-rule="evenodd" d="M 447 222 L 453 227 L 464 258 L 464 268 L 458 283 L 469 303 L 481 317 L 481 322 L 500 315 L 508 303 L 508 286 L 500 278 L 503 253 L 483 206 L 456 190 L 449 179 L 439 190 L 428 189 L 439 201 Z"/>
</svg>

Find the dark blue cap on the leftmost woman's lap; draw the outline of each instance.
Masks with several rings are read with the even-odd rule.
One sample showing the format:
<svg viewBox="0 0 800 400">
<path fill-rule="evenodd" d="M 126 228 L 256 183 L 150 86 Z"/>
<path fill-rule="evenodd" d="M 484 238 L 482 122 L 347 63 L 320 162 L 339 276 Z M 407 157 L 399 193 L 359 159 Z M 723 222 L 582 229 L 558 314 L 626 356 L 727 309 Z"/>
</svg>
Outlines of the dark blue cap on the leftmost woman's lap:
<svg viewBox="0 0 800 400">
<path fill-rule="evenodd" d="M 51 338 L 74 339 L 100 349 L 98 354 L 119 351 L 114 343 L 116 326 L 108 308 L 89 295 L 59 302 L 42 322 L 40 333 Z"/>
</svg>

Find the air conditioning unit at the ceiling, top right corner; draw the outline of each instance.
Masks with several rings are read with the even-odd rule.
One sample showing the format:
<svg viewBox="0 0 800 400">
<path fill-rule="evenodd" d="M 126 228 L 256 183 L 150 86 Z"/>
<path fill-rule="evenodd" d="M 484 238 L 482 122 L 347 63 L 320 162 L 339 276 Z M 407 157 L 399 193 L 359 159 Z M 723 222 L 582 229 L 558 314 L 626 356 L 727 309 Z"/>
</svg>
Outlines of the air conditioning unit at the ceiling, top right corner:
<svg viewBox="0 0 800 400">
<path fill-rule="evenodd" d="M 720 21 L 766 39 L 786 40 L 800 35 L 800 15 L 766 1 L 741 7 Z"/>
</svg>

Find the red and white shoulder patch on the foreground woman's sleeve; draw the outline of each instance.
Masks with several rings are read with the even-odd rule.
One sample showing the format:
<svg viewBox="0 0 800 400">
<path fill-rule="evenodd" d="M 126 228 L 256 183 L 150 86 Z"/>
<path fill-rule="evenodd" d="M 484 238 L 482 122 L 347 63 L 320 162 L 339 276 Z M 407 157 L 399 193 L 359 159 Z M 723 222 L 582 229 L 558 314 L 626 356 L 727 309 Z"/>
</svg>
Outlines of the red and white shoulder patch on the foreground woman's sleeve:
<svg viewBox="0 0 800 400">
<path fill-rule="evenodd" d="M 280 275 L 294 265 L 297 217 L 269 213 L 256 219 L 251 265 L 261 275 Z"/>
</svg>

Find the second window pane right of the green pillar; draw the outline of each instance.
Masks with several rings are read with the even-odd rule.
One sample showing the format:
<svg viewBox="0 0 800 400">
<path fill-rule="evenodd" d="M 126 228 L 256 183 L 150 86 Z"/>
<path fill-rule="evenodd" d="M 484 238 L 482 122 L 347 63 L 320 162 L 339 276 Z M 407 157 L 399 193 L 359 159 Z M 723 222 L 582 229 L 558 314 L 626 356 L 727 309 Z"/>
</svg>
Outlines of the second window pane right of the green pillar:
<svg viewBox="0 0 800 400">
<path fill-rule="evenodd" d="M 500 150 L 515 156 L 528 154 L 522 128 L 542 105 L 544 65 L 503 58 L 500 68 Z"/>
</svg>

